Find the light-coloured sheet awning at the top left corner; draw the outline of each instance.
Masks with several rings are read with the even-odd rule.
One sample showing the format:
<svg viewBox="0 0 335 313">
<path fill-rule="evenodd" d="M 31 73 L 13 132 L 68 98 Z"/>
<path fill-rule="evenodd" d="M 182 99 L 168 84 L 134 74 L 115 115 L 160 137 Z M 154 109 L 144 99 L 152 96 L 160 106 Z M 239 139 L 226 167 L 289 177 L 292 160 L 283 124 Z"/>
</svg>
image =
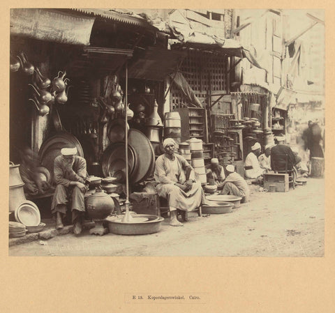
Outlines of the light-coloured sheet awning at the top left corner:
<svg viewBox="0 0 335 313">
<path fill-rule="evenodd" d="M 44 8 L 10 9 L 10 35 L 70 45 L 89 45 L 94 17 Z"/>
</svg>

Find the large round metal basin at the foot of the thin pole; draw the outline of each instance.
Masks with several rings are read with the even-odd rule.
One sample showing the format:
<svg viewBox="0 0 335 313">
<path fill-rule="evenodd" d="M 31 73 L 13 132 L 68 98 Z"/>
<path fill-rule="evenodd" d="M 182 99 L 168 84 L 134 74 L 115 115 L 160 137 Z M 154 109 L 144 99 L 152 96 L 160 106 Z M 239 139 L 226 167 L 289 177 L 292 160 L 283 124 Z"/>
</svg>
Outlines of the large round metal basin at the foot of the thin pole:
<svg viewBox="0 0 335 313">
<path fill-rule="evenodd" d="M 122 222 L 121 217 L 107 217 L 108 228 L 112 234 L 118 235 L 146 235 L 161 231 L 163 217 L 157 215 L 133 215 L 132 222 Z"/>
</svg>

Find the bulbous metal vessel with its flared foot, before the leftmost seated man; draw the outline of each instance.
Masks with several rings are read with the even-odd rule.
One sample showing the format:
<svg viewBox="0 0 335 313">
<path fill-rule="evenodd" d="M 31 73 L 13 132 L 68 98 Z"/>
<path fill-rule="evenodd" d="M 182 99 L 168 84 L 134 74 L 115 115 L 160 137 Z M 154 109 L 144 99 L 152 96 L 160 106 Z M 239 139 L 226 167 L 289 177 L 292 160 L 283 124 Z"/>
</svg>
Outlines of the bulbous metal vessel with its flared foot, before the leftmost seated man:
<svg viewBox="0 0 335 313">
<path fill-rule="evenodd" d="M 89 217 L 94 220 L 95 227 L 89 230 L 89 234 L 104 235 L 108 229 L 103 227 L 105 217 L 113 213 L 114 200 L 101 188 L 96 188 L 96 192 L 87 198 L 86 211 Z"/>
</svg>

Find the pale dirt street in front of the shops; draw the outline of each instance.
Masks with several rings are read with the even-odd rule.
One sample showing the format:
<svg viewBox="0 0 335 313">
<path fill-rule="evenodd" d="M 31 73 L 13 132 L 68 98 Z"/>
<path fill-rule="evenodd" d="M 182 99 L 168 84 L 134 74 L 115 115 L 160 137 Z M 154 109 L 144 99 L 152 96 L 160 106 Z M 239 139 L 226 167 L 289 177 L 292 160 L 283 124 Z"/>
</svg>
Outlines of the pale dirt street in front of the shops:
<svg viewBox="0 0 335 313">
<path fill-rule="evenodd" d="M 198 217 L 145 236 L 73 234 L 9 247 L 10 256 L 322 257 L 325 185 L 308 178 L 290 192 L 258 192 L 232 213 Z"/>
</svg>

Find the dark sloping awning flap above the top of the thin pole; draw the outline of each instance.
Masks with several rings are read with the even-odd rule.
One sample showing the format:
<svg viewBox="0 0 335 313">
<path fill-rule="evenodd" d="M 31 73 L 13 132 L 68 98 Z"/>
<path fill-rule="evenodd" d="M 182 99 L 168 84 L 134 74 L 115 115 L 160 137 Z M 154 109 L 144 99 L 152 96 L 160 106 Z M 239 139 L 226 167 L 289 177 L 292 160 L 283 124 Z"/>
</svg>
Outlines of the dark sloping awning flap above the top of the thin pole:
<svg viewBox="0 0 335 313">
<path fill-rule="evenodd" d="M 144 52 L 137 53 L 129 65 L 128 77 L 162 81 L 186 57 L 186 52 L 149 47 Z"/>
</svg>

